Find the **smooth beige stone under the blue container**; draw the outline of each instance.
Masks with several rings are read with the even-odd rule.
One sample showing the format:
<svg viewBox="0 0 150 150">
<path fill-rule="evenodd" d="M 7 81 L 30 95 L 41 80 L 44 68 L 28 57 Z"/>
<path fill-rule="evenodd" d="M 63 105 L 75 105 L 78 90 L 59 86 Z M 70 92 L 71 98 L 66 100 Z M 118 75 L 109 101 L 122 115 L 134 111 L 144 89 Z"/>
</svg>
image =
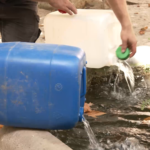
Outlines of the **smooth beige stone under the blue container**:
<svg viewBox="0 0 150 150">
<path fill-rule="evenodd" d="M 0 130 L 1 150 L 71 150 L 48 131 L 4 127 Z"/>
</svg>

